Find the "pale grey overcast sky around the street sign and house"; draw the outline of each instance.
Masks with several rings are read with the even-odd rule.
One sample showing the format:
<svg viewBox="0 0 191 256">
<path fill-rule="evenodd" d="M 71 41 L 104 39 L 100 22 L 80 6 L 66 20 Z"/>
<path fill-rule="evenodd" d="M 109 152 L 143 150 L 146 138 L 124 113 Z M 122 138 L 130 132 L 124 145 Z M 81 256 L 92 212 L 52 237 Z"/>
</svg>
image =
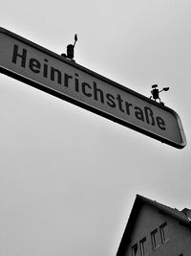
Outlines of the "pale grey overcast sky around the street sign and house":
<svg viewBox="0 0 191 256">
<path fill-rule="evenodd" d="M 178 150 L 0 75 L 0 256 L 114 256 L 136 195 L 190 200 L 189 0 L 1 1 L 0 26 L 180 116 Z"/>
</svg>

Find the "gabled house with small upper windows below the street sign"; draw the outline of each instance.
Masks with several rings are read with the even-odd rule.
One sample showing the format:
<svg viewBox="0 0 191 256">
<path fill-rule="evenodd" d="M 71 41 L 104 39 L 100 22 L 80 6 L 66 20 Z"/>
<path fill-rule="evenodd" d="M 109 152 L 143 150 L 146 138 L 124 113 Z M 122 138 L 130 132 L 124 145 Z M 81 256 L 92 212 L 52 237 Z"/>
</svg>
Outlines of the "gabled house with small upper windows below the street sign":
<svg viewBox="0 0 191 256">
<path fill-rule="evenodd" d="M 191 210 L 137 195 L 117 256 L 191 256 Z"/>
</svg>

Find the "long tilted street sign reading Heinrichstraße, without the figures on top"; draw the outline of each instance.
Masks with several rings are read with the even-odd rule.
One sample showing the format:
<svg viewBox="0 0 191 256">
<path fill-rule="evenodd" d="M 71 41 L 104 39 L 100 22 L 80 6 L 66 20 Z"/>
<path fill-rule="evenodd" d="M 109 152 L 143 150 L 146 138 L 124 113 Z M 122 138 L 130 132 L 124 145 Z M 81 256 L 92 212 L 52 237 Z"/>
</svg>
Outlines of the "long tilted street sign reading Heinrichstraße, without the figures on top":
<svg viewBox="0 0 191 256">
<path fill-rule="evenodd" d="M 0 71 L 175 148 L 186 145 L 174 110 L 3 28 Z"/>
</svg>

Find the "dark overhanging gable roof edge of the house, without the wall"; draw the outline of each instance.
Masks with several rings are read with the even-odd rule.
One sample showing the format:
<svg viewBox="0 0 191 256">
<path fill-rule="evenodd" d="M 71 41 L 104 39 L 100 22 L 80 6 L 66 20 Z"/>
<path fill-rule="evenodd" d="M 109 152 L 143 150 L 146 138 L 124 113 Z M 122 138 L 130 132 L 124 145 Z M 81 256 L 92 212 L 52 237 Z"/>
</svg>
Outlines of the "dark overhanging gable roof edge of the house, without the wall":
<svg viewBox="0 0 191 256">
<path fill-rule="evenodd" d="M 137 198 L 134 202 L 129 220 L 127 222 L 125 231 L 123 233 L 121 242 L 119 244 L 118 250 L 117 250 L 117 256 L 123 255 L 124 250 L 127 247 L 127 244 L 131 241 L 131 233 L 134 228 L 134 223 L 138 217 L 138 211 L 142 205 L 151 205 L 159 210 L 160 213 L 171 216 L 172 218 L 179 221 L 181 224 L 191 228 L 191 210 L 184 208 L 182 211 L 171 208 L 169 206 L 166 206 L 164 204 L 159 203 L 156 200 L 152 200 L 149 198 L 144 198 L 142 196 L 137 195 Z"/>
</svg>

